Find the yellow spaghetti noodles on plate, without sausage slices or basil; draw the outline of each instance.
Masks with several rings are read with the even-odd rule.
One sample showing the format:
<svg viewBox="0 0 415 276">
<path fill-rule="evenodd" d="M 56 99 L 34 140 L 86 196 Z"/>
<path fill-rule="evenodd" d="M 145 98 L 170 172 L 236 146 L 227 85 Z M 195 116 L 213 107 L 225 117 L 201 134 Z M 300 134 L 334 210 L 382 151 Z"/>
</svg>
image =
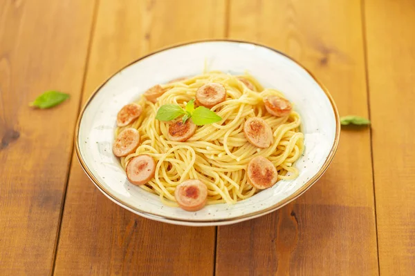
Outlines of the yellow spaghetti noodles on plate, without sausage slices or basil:
<svg viewBox="0 0 415 276">
<path fill-rule="evenodd" d="M 255 86 L 252 91 L 238 79 L 243 77 Z M 199 126 L 185 142 L 169 141 L 167 132 L 172 122 L 158 121 L 156 112 L 160 106 L 174 103 L 182 108 L 195 98 L 197 88 L 205 83 L 221 83 L 226 89 L 226 100 L 212 108 L 222 117 L 218 123 Z M 126 168 L 131 158 L 146 154 L 156 161 L 153 178 L 140 187 L 160 197 L 167 206 L 178 206 L 174 190 L 186 179 L 199 179 L 208 187 L 207 204 L 235 204 L 252 197 L 259 190 L 251 186 L 246 176 L 250 159 L 262 156 L 272 161 L 277 168 L 278 179 L 294 179 L 299 171 L 293 166 L 304 150 L 304 135 L 299 127 L 301 120 L 297 112 L 275 117 L 266 112 L 264 97 L 284 97 L 274 89 L 264 89 L 251 75 L 228 75 L 208 72 L 182 81 L 161 85 L 168 89 L 156 103 L 141 97 L 136 103 L 142 106 L 140 117 L 128 126 L 116 128 L 116 136 L 125 128 L 136 128 L 141 143 L 135 152 L 120 157 Z M 250 144 L 243 124 L 249 117 L 261 117 L 273 132 L 273 143 L 268 148 L 257 148 Z"/>
</svg>

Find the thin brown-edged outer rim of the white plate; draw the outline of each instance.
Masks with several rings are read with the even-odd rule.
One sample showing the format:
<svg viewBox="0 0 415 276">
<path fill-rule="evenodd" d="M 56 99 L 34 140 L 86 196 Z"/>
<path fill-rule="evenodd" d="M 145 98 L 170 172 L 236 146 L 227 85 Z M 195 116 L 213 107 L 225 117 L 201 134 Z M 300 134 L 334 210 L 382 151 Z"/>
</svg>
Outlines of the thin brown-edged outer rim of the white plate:
<svg viewBox="0 0 415 276">
<path fill-rule="evenodd" d="M 138 61 L 141 61 L 142 59 L 150 57 L 151 55 L 155 55 L 158 52 L 163 52 L 165 50 L 178 48 L 178 47 L 181 47 L 181 46 L 187 46 L 187 45 L 191 45 L 191 44 L 204 43 L 204 42 L 246 43 L 246 44 L 250 44 L 252 46 L 259 46 L 259 47 L 262 47 L 262 48 L 267 48 L 268 50 L 272 50 L 273 52 L 277 52 L 279 55 L 283 55 L 284 57 L 287 57 L 288 59 L 291 59 L 291 61 L 293 61 L 298 66 L 300 66 L 301 68 L 306 70 L 306 72 L 314 79 L 314 81 L 320 86 L 320 88 L 322 88 L 322 90 L 324 91 L 324 94 L 326 95 L 326 97 L 329 99 L 329 101 L 331 103 L 331 107 L 333 108 L 333 112 L 334 112 L 334 116 L 335 116 L 335 137 L 334 137 L 333 145 L 331 146 L 331 150 L 329 152 L 329 155 L 327 155 L 326 160 L 324 161 L 324 164 L 323 164 L 322 168 L 320 168 L 320 170 L 318 170 L 315 173 L 315 175 L 313 175 L 313 177 L 311 177 L 311 179 L 306 181 L 306 183 L 303 186 L 301 186 L 297 191 L 295 191 L 295 193 L 293 193 L 293 195 L 290 195 L 289 197 L 286 197 L 285 199 L 283 199 L 281 201 L 278 201 L 273 206 L 270 206 L 270 207 L 268 207 L 264 210 L 258 210 L 254 213 L 250 213 L 250 214 L 246 214 L 246 215 L 240 215 L 239 217 L 232 217 L 232 218 L 226 218 L 226 219 L 205 219 L 205 220 L 197 220 L 197 221 L 189 220 L 189 219 L 178 219 L 176 217 L 167 217 L 167 216 L 164 216 L 164 215 L 158 215 L 158 214 L 154 214 L 154 213 L 150 213 L 150 212 L 140 210 L 140 209 L 138 209 L 134 206 L 131 206 L 130 204 L 127 204 L 127 203 L 121 201 L 120 199 L 116 198 L 115 196 L 113 196 L 109 192 L 109 190 L 104 188 L 104 186 L 102 186 L 102 184 L 100 184 L 100 181 L 98 181 L 98 179 L 95 178 L 95 176 L 93 175 L 91 170 L 89 170 L 89 168 L 86 165 L 84 159 L 82 158 L 82 155 L 81 155 L 81 152 L 80 152 L 80 145 L 78 144 L 78 138 L 79 138 L 79 133 L 80 133 L 80 123 L 81 123 L 82 117 L 84 115 L 84 111 L 89 106 L 89 103 L 91 103 L 91 101 L 93 100 L 95 95 L 98 94 L 98 91 L 100 91 L 100 89 L 110 79 L 112 79 L 114 76 L 116 76 L 119 72 L 121 72 L 125 68 L 133 65 L 134 63 L 137 63 Z M 134 61 L 131 61 L 127 65 L 122 66 L 122 68 L 118 69 L 116 72 L 111 74 L 99 86 L 97 86 L 97 88 L 95 88 L 95 90 L 89 96 L 89 99 L 86 101 L 86 103 L 84 103 L 84 106 L 82 106 L 82 110 L 80 110 L 80 113 L 77 117 L 77 122 L 76 122 L 76 125 L 75 125 L 75 135 L 74 135 L 75 152 L 76 152 L 76 155 L 77 155 L 77 159 L 81 164 L 82 170 L 84 170 L 86 175 L 89 177 L 89 179 L 91 179 L 91 181 L 93 182 L 93 184 L 95 184 L 95 186 L 98 188 L 98 190 L 100 190 L 101 193 L 103 193 L 109 199 L 111 199 L 111 201 L 115 202 L 116 204 L 118 204 L 119 206 L 122 206 L 123 208 L 125 208 L 127 210 L 130 210 L 133 213 L 136 213 L 137 215 L 140 215 L 142 217 L 146 217 L 148 219 L 154 219 L 154 220 L 157 220 L 157 221 L 163 221 L 163 222 L 172 223 L 172 224 L 186 224 L 186 225 L 191 225 L 192 224 L 192 225 L 196 225 L 196 226 L 198 224 L 201 224 L 203 226 L 208 226 L 208 225 L 213 226 L 213 225 L 219 225 L 219 224 L 232 224 L 232 223 L 236 223 L 236 222 L 247 220 L 247 219 L 253 219 L 255 217 L 259 217 L 261 215 L 266 215 L 268 213 L 271 213 L 271 212 L 273 212 L 273 211 L 275 211 L 279 208 L 282 208 L 283 206 L 290 203 L 291 201 L 297 199 L 297 197 L 299 197 L 300 195 L 305 193 L 306 190 L 308 190 L 308 188 L 311 188 L 311 186 L 313 186 L 313 184 L 315 184 L 315 182 L 318 179 L 320 179 L 320 177 L 322 177 L 324 172 L 326 172 L 327 168 L 329 168 L 331 162 L 333 161 L 335 153 L 338 150 L 339 140 L 340 140 L 340 116 L 339 116 L 339 113 L 338 113 L 338 108 L 335 105 L 335 102 L 333 100 L 333 97 L 331 96 L 331 94 L 330 94 L 329 90 L 326 88 L 326 86 L 324 86 L 324 84 L 319 79 L 317 79 L 317 77 L 315 77 L 315 75 L 313 75 L 313 73 L 310 70 L 308 70 L 305 66 L 303 66 L 302 63 L 299 63 L 299 61 L 293 59 L 293 57 L 290 57 L 290 56 L 286 55 L 284 52 L 281 52 L 279 50 L 276 50 L 274 48 L 271 48 L 270 46 L 266 46 L 266 45 L 261 44 L 261 43 L 257 43 L 257 42 L 253 42 L 253 41 L 244 41 L 244 40 L 240 40 L 240 39 L 198 39 L 198 40 L 194 40 L 194 41 L 187 41 L 187 42 L 184 42 L 184 43 L 175 43 L 171 46 L 167 46 L 167 47 L 164 47 L 164 48 L 159 48 L 158 50 L 154 50 L 153 52 L 149 52 L 149 54 L 144 55 L 142 57 L 139 57 L 138 59 L 135 59 Z"/>
</svg>

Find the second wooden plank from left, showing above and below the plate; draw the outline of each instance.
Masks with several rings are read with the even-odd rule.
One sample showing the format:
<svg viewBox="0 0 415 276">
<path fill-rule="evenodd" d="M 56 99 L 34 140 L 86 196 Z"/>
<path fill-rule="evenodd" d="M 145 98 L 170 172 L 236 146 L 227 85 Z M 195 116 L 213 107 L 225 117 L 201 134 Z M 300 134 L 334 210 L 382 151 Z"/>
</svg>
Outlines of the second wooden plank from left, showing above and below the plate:
<svg viewBox="0 0 415 276">
<path fill-rule="evenodd" d="M 224 19 L 224 1 L 100 1 L 84 101 L 106 77 L 151 50 L 223 37 Z M 214 242 L 214 227 L 162 224 L 113 204 L 73 162 L 57 275 L 212 275 Z"/>
</svg>

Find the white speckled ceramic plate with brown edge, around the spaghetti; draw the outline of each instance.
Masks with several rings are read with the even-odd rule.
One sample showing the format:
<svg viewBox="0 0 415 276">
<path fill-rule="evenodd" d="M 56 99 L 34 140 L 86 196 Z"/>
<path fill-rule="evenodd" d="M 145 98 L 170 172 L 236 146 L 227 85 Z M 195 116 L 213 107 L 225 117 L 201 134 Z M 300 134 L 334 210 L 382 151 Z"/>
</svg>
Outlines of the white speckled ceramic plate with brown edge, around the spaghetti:
<svg viewBox="0 0 415 276">
<path fill-rule="evenodd" d="M 304 155 L 295 163 L 299 177 L 280 180 L 235 205 L 205 206 L 197 212 L 163 206 L 156 195 L 129 183 L 112 154 L 118 110 L 157 83 L 209 70 L 242 74 L 246 70 L 264 87 L 276 88 L 295 103 L 302 117 Z M 259 217 L 288 204 L 319 179 L 335 155 L 340 134 L 338 111 L 329 92 L 303 66 L 282 52 L 243 41 L 196 41 L 159 50 L 122 68 L 105 81 L 84 106 L 77 121 L 75 148 L 95 186 L 131 212 L 171 224 L 212 226 Z"/>
</svg>

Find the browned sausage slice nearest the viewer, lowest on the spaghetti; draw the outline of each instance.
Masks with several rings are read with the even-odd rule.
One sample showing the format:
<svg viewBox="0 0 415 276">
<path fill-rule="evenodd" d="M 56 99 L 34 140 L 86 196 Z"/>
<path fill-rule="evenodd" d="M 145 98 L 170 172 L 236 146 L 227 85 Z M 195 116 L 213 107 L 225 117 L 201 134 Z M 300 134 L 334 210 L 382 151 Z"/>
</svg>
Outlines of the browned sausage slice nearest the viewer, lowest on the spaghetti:
<svg viewBox="0 0 415 276">
<path fill-rule="evenodd" d="M 208 188 L 197 179 L 189 179 L 176 187 L 174 197 L 183 210 L 195 212 L 205 206 Z"/>
</svg>

